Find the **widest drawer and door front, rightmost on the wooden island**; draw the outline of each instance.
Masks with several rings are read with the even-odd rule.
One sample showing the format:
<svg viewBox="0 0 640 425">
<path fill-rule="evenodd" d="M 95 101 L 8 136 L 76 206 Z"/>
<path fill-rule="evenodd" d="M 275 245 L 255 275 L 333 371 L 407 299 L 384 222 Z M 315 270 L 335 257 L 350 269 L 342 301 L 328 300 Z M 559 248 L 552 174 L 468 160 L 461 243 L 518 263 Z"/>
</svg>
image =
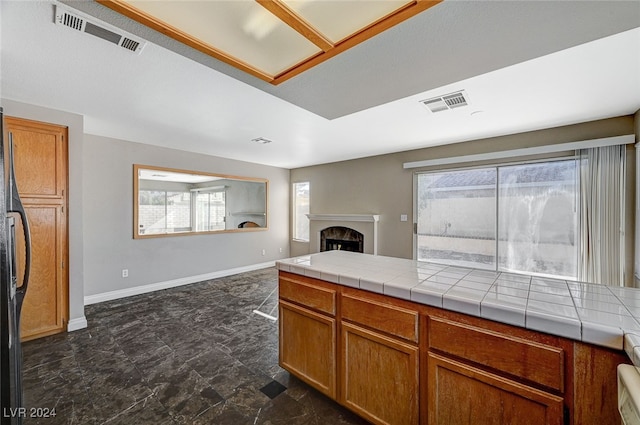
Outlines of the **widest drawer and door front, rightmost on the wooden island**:
<svg viewBox="0 0 640 425">
<path fill-rule="evenodd" d="M 426 332 L 429 425 L 565 423 L 566 344 L 444 316 L 429 316 Z"/>
</svg>

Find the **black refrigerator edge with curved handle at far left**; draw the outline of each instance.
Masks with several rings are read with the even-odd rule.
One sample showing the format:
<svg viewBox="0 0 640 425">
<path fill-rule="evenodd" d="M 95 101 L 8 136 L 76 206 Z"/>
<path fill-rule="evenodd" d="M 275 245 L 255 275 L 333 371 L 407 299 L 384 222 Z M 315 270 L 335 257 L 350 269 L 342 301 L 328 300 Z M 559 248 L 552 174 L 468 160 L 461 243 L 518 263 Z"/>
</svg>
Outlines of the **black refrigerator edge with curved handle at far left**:
<svg viewBox="0 0 640 425">
<path fill-rule="evenodd" d="M 5 143 L 6 142 L 6 143 Z M 16 220 L 24 231 L 25 268 L 18 285 Z M 21 424 L 27 411 L 22 400 L 20 313 L 31 267 L 31 238 L 25 210 L 18 196 L 13 168 L 13 143 L 4 137 L 0 107 L 0 424 Z"/>
</svg>

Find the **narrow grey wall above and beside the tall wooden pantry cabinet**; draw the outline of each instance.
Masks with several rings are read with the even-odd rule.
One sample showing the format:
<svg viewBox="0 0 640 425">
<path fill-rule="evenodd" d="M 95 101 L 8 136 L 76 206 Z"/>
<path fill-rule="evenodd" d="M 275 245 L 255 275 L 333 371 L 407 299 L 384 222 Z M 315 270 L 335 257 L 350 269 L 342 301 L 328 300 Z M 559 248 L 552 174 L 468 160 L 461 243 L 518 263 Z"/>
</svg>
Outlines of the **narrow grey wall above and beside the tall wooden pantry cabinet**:
<svg viewBox="0 0 640 425">
<path fill-rule="evenodd" d="M 2 99 L 6 116 L 64 125 L 69 134 L 69 320 L 84 319 L 84 240 L 82 150 L 84 118 L 26 103 Z"/>
</svg>

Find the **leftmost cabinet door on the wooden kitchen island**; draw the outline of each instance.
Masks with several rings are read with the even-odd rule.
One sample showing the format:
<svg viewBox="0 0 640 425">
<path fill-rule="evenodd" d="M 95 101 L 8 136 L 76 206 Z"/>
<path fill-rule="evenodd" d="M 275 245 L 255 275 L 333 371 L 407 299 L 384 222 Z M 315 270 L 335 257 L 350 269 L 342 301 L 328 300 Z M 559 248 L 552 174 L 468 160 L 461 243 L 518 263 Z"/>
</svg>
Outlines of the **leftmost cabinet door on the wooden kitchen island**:
<svg viewBox="0 0 640 425">
<path fill-rule="evenodd" d="M 280 300 L 280 366 L 336 398 L 336 320 Z"/>
</svg>

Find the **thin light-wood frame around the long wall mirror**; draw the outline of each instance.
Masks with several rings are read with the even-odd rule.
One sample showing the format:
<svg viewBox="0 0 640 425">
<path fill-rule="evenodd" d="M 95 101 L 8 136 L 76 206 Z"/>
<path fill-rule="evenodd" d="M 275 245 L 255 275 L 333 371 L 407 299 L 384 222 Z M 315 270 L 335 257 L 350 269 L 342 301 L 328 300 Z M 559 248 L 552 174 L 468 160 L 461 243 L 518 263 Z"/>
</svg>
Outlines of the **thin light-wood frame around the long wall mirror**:
<svg viewBox="0 0 640 425">
<path fill-rule="evenodd" d="M 243 227 L 243 228 L 234 228 L 234 229 L 224 229 L 224 230 L 203 230 L 203 231 L 188 231 L 188 232 L 168 232 L 168 233 L 152 233 L 152 234 L 140 234 L 138 232 L 140 225 L 140 206 L 139 206 L 139 188 L 140 188 L 140 178 L 139 172 L 140 170 L 152 170 L 152 171 L 166 171 L 171 173 L 181 173 L 181 174 L 190 174 L 190 175 L 201 175 L 201 176 L 211 176 L 222 179 L 230 179 L 230 180 L 240 180 L 245 182 L 255 182 L 255 183 L 264 183 L 265 185 L 265 196 L 264 196 L 264 219 L 265 225 L 264 227 Z M 188 236 L 188 235 L 211 235 L 218 233 L 238 233 L 238 232 L 260 232 L 269 230 L 269 180 L 257 177 L 245 177 L 245 176 L 236 176 L 231 174 L 218 174 L 218 173 L 209 173 L 205 171 L 193 171 L 193 170 L 182 170 L 177 168 L 169 168 L 169 167 L 159 167 L 154 165 L 142 165 L 142 164 L 133 164 L 133 238 L 134 239 L 152 239 L 152 238 L 164 238 L 164 237 L 172 237 L 172 236 Z M 225 214 L 225 217 L 227 215 Z"/>
</svg>

